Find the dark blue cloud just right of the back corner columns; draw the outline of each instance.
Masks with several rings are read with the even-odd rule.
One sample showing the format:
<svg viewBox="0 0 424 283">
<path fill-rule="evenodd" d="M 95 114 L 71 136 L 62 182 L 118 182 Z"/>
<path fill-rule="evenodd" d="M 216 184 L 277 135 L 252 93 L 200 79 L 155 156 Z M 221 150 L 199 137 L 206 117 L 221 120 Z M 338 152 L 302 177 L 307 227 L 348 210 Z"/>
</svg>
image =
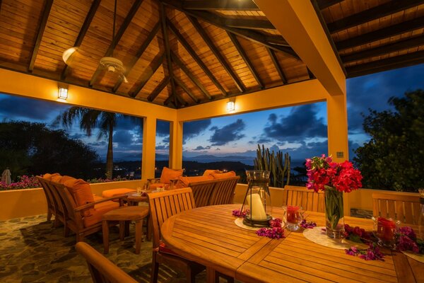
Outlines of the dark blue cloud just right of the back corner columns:
<svg viewBox="0 0 424 283">
<path fill-rule="evenodd" d="M 213 134 L 209 141 L 211 141 L 213 146 L 223 146 L 228 144 L 230 141 L 237 141 L 238 139 L 245 137 L 245 134 L 241 133 L 245 127 L 245 122 L 241 119 L 237 119 L 237 121 L 222 128 L 211 127 Z"/>
</svg>

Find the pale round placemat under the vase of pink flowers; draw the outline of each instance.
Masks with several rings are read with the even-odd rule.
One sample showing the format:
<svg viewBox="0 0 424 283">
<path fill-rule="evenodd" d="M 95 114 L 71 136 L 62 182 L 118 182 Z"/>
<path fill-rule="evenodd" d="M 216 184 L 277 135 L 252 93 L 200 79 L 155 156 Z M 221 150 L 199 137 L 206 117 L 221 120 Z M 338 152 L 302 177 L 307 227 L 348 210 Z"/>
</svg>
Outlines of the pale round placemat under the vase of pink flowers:
<svg viewBox="0 0 424 283">
<path fill-rule="evenodd" d="M 326 236 L 325 231 L 323 231 L 322 229 L 325 229 L 325 227 L 319 226 L 314 227 L 312 229 L 305 229 L 305 231 L 303 231 L 303 236 L 305 236 L 305 238 L 307 238 L 309 241 L 317 243 L 318 245 L 328 248 L 336 248 L 338 250 L 346 250 L 347 248 L 351 247 L 361 249 L 368 248 L 368 246 L 363 243 L 356 243 L 346 239 L 334 240 L 332 238 L 329 238 L 329 236 Z"/>
</svg>

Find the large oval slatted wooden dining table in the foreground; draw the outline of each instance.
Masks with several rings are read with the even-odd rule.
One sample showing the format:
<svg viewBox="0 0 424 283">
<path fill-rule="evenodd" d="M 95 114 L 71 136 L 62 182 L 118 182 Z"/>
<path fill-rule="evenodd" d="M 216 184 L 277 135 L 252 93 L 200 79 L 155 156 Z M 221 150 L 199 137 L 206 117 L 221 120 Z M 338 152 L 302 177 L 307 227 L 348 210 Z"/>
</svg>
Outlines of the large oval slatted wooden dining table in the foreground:
<svg viewBox="0 0 424 283">
<path fill-rule="evenodd" d="M 242 282 L 424 282 L 424 264 L 382 249 L 384 261 L 363 260 L 344 250 L 313 243 L 302 233 L 285 229 L 285 238 L 257 236 L 235 224 L 232 210 L 240 204 L 196 209 L 170 217 L 161 237 L 184 258 L 206 266 L 207 282 L 216 271 Z M 283 209 L 274 207 L 273 217 Z M 324 226 L 324 214 L 305 212 L 307 221 Z M 372 230 L 372 220 L 345 217 L 345 223 Z"/>
</svg>

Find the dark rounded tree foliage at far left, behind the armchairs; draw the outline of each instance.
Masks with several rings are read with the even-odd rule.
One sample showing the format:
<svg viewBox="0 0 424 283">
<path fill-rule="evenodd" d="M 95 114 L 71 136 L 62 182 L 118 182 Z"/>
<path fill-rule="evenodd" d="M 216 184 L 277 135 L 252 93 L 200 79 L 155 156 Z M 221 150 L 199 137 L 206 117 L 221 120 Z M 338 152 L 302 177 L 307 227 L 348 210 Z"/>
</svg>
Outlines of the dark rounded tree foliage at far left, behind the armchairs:
<svg viewBox="0 0 424 283">
<path fill-rule="evenodd" d="M 76 178 L 93 178 L 98 155 L 63 130 L 31 122 L 0 123 L 0 169 L 12 177 L 59 172 Z"/>
</svg>

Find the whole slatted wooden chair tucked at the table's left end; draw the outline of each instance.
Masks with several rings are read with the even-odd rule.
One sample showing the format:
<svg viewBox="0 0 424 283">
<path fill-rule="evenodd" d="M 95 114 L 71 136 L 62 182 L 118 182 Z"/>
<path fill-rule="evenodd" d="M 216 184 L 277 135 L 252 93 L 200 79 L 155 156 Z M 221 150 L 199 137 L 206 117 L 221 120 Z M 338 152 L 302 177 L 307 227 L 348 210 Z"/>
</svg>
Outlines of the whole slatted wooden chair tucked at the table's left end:
<svg viewBox="0 0 424 283">
<path fill-rule="evenodd" d="M 160 241 L 160 226 L 170 216 L 196 207 L 193 192 L 189 187 L 164 192 L 148 194 L 151 220 L 153 221 L 153 258 L 151 282 L 158 282 L 159 265 L 170 264 L 182 270 L 187 282 L 194 282 L 197 273 L 205 269 L 203 265 L 192 262 L 179 255 L 173 254 L 169 248 L 165 248 Z"/>
</svg>

